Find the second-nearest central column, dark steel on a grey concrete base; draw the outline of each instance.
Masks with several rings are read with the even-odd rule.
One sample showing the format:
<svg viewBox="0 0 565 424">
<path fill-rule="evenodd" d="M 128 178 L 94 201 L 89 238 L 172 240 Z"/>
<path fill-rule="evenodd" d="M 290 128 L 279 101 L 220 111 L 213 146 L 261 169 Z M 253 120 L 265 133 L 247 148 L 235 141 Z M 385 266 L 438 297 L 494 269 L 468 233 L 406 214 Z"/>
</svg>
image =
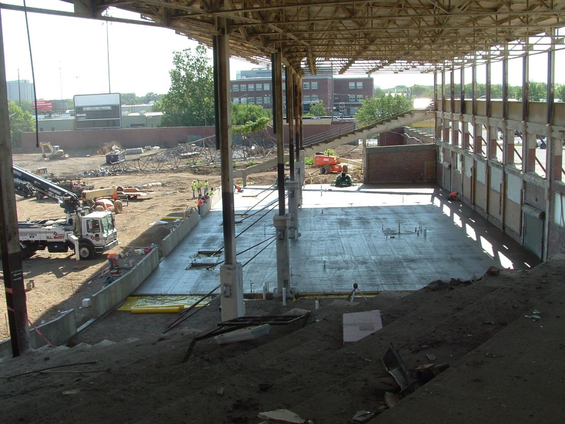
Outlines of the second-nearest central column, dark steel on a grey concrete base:
<svg viewBox="0 0 565 424">
<path fill-rule="evenodd" d="M 280 49 L 272 55 L 273 92 L 275 93 L 276 107 L 273 120 L 276 123 L 277 136 L 277 183 L 279 185 L 279 214 L 273 218 L 277 244 L 277 292 L 282 294 L 290 292 L 290 265 L 289 265 L 289 215 L 286 214 L 285 189 L 284 189 L 284 127 L 282 126 L 282 55 Z"/>
</svg>

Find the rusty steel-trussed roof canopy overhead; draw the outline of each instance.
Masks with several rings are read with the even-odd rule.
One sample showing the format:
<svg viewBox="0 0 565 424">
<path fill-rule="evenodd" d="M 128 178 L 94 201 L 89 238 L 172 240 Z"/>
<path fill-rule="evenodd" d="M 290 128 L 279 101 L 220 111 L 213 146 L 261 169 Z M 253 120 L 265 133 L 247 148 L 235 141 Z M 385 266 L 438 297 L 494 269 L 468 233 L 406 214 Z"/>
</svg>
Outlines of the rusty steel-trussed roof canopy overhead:
<svg viewBox="0 0 565 424">
<path fill-rule="evenodd" d="M 533 50 L 528 37 L 565 25 L 563 0 L 65 1 L 75 16 L 100 18 L 110 6 L 138 12 L 208 46 L 216 20 L 227 18 L 233 57 L 268 65 L 280 48 L 285 63 L 306 74 L 449 69 L 523 54 Z"/>
</svg>

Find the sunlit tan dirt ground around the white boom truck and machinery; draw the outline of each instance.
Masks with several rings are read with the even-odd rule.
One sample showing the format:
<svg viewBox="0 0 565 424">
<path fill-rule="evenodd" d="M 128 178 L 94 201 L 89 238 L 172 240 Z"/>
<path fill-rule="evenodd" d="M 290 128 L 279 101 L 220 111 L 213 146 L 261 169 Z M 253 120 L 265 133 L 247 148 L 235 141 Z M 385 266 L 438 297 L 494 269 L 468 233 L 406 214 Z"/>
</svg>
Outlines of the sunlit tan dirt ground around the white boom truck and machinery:
<svg viewBox="0 0 565 424">
<path fill-rule="evenodd" d="M 360 146 L 341 146 L 337 153 L 346 158 L 359 159 Z M 15 154 L 15 165 L 29 171 L 39 167 L 47 167 L 48 171 L 56 176 L 73 175 L 78 172 L 98 169 L 106 166 L 105 155 L 100 155 L 92 149 L 66 151 L 68 159 L 49 161 L 42 158 L 41 154 Z M 131 158 L 128 156 L 128 158 Z M 258 159 L 259 161 L 260 159 Z M 307 167 L 307 183 L 331 183 L 335 175 L 320 175 L 319 168 Z M 352 178 L 359 179 L 360 171 L 351 168 Z M 194 179 L 207 179 L 210 187 L 218 187 L 220 170 L 218 167 L 198 167 L 191 170 L 138 172 L 116 176 L 98 178 L 85 178 L 88 184 L 96 188 L 117 185 L 146 185 L 160 183 L 148 187 L 153 191 L 151 196 L 144 200 L 130 201 L 124 205 L 124 212 L 115 215 L 118 228 L 119 246 L 109 253 L 128 254 L 125 263 L 136 261 L 133 250 L 144 248 L 159 242 L 168 235 L 172 224 L 152 225 L 162 217 L 182 216 L 190 206 L 196 206 L 192 198 L 190 183 Z M 276 170 L 254 174 L 247 178 L 247 184 L 271 185 L 276 180 Z M 62 218 L 63 210 L 53 200 L 47 198 L 23 198 L 16 195 L 18 219 L 25 220 L 41 218 Z M 82 269 L 76 269 L 76 259 L 72 252 L 49 253 L 40 251 L 31 258 L 23 261 L 24 281 L 33 280 L 34 288 L 27 292 L 28 316 L 33 325 L 40 325 L 57 317 L 63 311 L 75 308 L 78 325 L 88 321 L 89 311 L 82 309 L 82 299 L 88 298 L 105 285 L 108 271 L 106 254 L 96 256 L 90 261 L 81 261 Z M 0 317 L 3 316 L 3 325 L 0 325 L 0 340 L 9 337 L 6 297 L 4 291 L 0 293 Z M 1 319 L 1 318 L 0 318 Z"/>
</svg>

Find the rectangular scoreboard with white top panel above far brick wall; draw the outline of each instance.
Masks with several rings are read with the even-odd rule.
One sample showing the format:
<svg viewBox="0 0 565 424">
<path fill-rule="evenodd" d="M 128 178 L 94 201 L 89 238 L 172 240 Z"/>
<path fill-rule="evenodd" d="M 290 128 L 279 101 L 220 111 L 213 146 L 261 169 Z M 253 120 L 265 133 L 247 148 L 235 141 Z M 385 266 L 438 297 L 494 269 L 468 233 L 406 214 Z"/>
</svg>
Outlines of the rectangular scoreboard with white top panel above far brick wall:
<svg viewBox="0 0 565 424">
<path fill-rule="evenodd" d="M 121 128 L 120 93 L 77 94 L 76 129 Z"/>
</svg>

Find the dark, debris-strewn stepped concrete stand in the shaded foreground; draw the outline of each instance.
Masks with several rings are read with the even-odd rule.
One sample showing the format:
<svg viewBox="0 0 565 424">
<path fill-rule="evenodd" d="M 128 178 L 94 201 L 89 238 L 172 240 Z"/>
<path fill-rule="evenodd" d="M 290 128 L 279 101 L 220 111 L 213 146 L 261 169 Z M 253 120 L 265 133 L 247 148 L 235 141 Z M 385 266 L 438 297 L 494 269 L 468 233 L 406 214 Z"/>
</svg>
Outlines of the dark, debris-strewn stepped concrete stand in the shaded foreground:
<svg viewBox="0 0 565 424">
<path fill-rule="evenodd" d="M 186 362 L 194 335 L 220 321 L 218 300 L 166 334 L 174 315 L 115 311 L 72 348 L 45 347 L 0 362 L 3 419 L 259 423 L 260 412 L 289 409 L 316 424 L 350 423 L 360 410 L 375 413 L 366 421 L 373 424 L 561 422 L 564 271 L 562 259 L 551 260 L 475 282 L 357 297 L 354 304 L 319 298 L 319 310 L 315 298 L 287 306 L 247 301 L 250 315 L 300 308 L 311 317 L 252 341 L 198 341 Z M 375 309 L 384 328 L 344 346 L 342 314 Z M 127 331 L 133 322 L 137 330 Z M 411 371 L 449 367 L 389 408 L 385 393 L 399 389 L 381 358 L 391 343 Z"/>
</svg>

